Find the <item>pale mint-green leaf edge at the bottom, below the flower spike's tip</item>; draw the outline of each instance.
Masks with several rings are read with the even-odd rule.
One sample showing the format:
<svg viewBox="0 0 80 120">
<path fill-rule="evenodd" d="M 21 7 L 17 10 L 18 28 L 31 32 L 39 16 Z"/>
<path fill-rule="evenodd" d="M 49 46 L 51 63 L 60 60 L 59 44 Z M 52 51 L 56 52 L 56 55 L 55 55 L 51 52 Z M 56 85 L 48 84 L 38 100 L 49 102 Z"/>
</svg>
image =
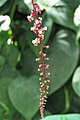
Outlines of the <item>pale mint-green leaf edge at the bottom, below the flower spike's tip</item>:
<svg viewBox="0 0 80 120">
<path fill-rule="evenodd" d="M 42 120 L 80 120 L 80 114 L 53 115 Z"/>
</svg>

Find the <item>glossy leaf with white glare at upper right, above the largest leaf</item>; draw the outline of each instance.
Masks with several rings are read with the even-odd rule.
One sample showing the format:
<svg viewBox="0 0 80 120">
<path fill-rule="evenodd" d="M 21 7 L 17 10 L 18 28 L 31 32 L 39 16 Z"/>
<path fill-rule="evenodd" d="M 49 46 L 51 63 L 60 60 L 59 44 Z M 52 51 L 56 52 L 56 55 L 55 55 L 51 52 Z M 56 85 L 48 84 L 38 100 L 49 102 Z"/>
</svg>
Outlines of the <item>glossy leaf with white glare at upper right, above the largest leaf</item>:
<svg viewBox="0 0 80 120">
<path fill-rule="evenodd" d="M 48 8 L 46 12 L 53 18 L 55 23 L 70 29 L 75 29 L 73 24 L 73 11 L 66 5 Z"/>
</svg>

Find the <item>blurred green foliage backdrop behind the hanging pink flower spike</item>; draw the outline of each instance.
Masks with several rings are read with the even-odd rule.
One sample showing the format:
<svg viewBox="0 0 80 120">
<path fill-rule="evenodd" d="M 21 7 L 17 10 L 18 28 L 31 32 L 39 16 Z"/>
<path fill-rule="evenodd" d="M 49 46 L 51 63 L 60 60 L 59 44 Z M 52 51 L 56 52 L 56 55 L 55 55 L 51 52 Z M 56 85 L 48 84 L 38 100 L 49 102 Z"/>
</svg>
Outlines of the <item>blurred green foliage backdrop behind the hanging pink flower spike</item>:
<svg viewBox="0 0 80 120">
<path fill-rule="evenodd" d="M 80 0 L 35 0 L 47 26 L 50 94 L 45 116 L 80 113 Z M 27 15 L 31 0 L 0 0 L 0 120 L 38 120 L 39 47 Z"/>
</svg>

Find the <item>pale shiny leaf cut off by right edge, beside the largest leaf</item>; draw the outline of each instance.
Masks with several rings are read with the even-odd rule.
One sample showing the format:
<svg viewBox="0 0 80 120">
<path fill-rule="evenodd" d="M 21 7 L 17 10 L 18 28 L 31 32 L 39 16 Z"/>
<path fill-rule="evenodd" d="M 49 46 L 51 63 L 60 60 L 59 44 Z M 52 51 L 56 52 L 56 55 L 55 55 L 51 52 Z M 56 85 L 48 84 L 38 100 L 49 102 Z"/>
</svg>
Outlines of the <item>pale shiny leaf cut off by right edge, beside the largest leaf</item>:
<svg viewBox="0 0 80 120">
<path fill-rule="evenodd" d="M 73 75 L 72 86 L 76 94 L 80 97 L 80 66 L 76 69 Z"/>
</svg>

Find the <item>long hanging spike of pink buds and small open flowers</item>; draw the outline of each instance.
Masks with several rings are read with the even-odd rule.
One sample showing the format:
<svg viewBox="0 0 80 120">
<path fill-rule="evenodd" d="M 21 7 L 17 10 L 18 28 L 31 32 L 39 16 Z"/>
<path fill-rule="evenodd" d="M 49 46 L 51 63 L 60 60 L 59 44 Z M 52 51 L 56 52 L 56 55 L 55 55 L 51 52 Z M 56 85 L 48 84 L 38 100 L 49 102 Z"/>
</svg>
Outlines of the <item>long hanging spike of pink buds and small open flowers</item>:
<svg viewBox="0 0 80 120">
<path fill-rule="evenodd" d="M 35 40 L 32 40 L 32 43 L 34 46 L 40 46 L 40 58 L 36 58 L 36 62 L 40 62 L 38 72 L 40 72 L 40 114 L 41 117 L 43 118 L 44 116 L 44 108 L 47 102 L 47 95 L 48 95 L 48 90 L 49 90 L 49 83 L 50 80 L 48 80 L 48 76 L 50 73 L 47 72 L 49 68 L 49 64 L 46 64 L 46 61 L 49 60 L 47 55 L 43 52 L 43 49 L 48 49 L 49 45 L 43 46 L 43 40 L 44 40 L 44 34 L 45 31 L 47 30 L 47 27 L 41 27 L 42 25 L 42 18 L 38 17 L 38 14 L 41 14 L 42 10 L 39 7 L 37 3 L 34 3 L 32 0 L 33 4 L 33 10 L 31 12 L 30 16 L 27 16 L 27 19 L 29 22 L 34 21 L 34 26 L 31 27 L 31 31 L 33 31 L 36 35 L 37 38 Z"/>
</svg>

